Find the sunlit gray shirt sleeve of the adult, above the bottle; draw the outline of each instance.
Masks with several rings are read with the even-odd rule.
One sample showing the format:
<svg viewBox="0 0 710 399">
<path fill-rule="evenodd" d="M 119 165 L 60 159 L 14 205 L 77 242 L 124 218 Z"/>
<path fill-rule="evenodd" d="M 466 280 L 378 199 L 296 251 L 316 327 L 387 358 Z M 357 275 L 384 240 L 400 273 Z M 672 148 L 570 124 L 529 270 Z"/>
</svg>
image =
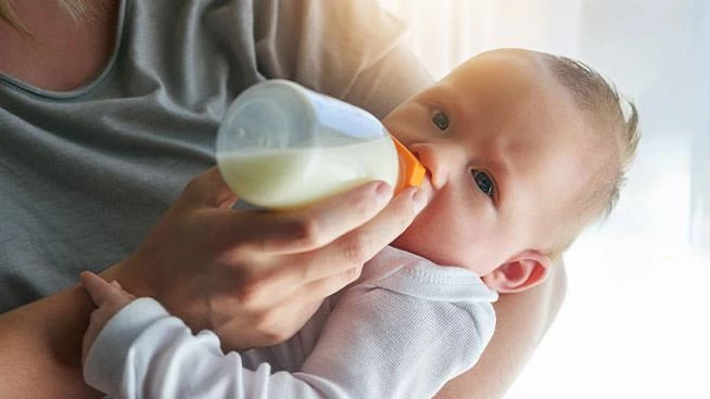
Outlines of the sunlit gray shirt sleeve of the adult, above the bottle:
<svg viewBox="0 0 710 399">
<path fill-rule="evenodd" d="M 432 83 L 407 44 L 404 22 L 376 0 L 261 1 L 256 4 L 258 67 L 382 118 Z"/>
</svg>

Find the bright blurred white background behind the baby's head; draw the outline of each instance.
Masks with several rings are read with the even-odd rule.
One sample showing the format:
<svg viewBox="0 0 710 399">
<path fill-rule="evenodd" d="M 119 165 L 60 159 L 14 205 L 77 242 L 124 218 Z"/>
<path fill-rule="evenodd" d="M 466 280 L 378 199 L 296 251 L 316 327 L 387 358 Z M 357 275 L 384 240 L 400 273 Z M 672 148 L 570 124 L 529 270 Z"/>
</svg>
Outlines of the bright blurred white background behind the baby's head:
<svg viewBox="0 0 710 399">
<path fill-rule="evenodd" d="M 710 1 L 380 1 L 435 78 L 529 48 L 584 61 L 638 106 L 619 205 L 567 254 L 566 303 L 506 398 L 710 398 Z"/>
</svg>

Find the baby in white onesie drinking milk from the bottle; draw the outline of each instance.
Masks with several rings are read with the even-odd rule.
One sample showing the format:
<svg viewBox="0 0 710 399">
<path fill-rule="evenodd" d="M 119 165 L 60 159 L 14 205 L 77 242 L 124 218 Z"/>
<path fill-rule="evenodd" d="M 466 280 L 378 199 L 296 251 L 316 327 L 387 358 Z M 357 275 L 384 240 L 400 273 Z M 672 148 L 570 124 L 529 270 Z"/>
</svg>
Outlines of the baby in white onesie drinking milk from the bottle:
<svg viewBox="0 0 710 399">
<path fill-rule="evenodd" d="M 101 332 L 85 338 L 85 378 L 128 398 L 432 397 L 490 342 L 498 293 L 544 281 L 608 215 L 638 141 L 630 114 L 578 62 L 480 54 L 384 119 L 427 168 L 429 205 L 294 337 L 224 355 L 215 334 L 87 272 Z"/>
</svg>

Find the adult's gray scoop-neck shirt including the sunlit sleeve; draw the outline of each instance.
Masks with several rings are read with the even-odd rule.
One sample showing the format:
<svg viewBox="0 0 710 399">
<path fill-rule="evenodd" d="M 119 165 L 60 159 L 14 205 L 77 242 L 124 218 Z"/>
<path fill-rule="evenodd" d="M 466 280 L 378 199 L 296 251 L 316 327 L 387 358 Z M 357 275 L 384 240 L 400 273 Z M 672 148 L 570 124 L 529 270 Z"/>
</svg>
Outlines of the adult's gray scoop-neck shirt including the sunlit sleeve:
<svg viewBox="0 0 710 399">
<path fill-rule="evenodd" d="M 111 62 L 52 92 L 0 74 L 0 312 L 130 254 L 265 78 L 382 116 L 430 82 L 370 1 L 124 0 Z M 147 265 L 147 267 L 150 267 Z"/>
</svg>

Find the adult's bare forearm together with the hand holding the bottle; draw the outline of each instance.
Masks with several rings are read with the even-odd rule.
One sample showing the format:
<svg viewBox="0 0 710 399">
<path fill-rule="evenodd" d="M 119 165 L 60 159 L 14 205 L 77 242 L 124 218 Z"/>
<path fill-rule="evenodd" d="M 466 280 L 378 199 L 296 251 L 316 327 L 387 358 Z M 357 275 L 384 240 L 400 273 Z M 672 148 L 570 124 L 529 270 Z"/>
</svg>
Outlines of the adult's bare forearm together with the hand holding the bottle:
<svg viewBox="0 0 710 399">
<path fill-rule="evenodd" d="M 193 329 L 229 337 L 226 348 L 272 345 L 355 280 L 414 220 L 417 198 L 426 201 L 408 190 L 388 203 L 391 190 L 380 189 L 367 183 L 290 213 L 238 211 L 213 168 L 188 184 L 136 253 L 102 274 L 167 304 Z M 72 287 L 0 316 L 0 397 L 93 397 L 79 361 L 90 310 Z"/>
</svg>

